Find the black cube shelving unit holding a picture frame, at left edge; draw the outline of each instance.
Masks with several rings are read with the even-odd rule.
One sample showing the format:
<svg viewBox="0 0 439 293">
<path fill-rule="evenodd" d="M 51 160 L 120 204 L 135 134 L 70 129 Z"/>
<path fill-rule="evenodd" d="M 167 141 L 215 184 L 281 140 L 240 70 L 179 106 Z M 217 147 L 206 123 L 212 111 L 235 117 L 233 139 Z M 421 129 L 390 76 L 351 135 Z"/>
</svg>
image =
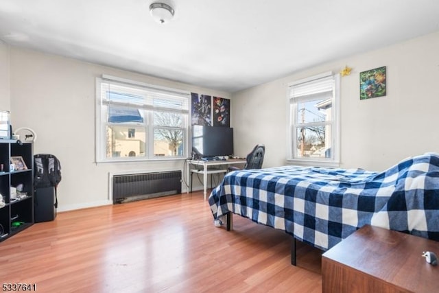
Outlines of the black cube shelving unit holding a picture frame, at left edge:
<svg viewBox="0 0 439 293">
<path fill-rule="evenodd" d="M 21 156 L 27 167 L 11 170 L 12 156 Z M 34 224 L 34 154 L 32 143 L 17 143 L 16 140 L 0 139 L 0 194 L 5 206 L 0 208 L 0 242 Z M 11 187 L 23 185 L 23 191 L 11 198 Z M 1 231 L 0 231 L 1 232 Z"/>
</svg>

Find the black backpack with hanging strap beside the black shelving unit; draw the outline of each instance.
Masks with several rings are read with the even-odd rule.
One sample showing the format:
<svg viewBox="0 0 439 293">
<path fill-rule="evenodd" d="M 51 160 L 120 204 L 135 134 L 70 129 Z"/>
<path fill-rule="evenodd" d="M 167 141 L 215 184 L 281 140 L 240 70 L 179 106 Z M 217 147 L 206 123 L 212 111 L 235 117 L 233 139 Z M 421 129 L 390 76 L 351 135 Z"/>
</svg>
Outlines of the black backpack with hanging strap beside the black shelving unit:
<svg viewBox="0 0 439 293">
<path fill-rule="evenodd" d="M 53 154 L 35 154 L 34 155 L 34 187 L 55 187 L 55 207 L 58 207 L 58 197 L 56 196 L 56 187 L 61 181 L 61 164 L 60 160 Z"/>
</svg>

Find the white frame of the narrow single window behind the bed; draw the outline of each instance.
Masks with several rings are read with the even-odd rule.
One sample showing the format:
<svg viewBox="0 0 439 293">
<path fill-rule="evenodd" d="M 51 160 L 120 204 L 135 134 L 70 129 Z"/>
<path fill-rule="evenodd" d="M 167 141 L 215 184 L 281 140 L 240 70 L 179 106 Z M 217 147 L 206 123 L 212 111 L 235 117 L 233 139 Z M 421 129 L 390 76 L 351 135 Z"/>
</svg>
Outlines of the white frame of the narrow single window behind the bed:
<svg viewBox="0 0 439 293">
<path fill-rule="evenodd" d="M 296 156 L 297 130 L 303 127 L 298 121 L 298 104 L 304 101 L 311 101 L 311 97 L 297 98 L 292 95 L 292 88 L 302 84 L 318 84 L 318 82 L 332 78 L 333 79 L 333 97 L 332 97 L 332 119 L 331 121 L 321 121 L 317 123 L 309 123 L 314 126 L 331 126 L 331 157 L 300 157 Z M 332 72 L 313 75 L 309 78 L 303 78 L 290 82 L 287 86 L 287 162 L 298 165 L 312 165 L 321 167 L 339 167 L 340 166 L 340 74 Z"/>
</svg>

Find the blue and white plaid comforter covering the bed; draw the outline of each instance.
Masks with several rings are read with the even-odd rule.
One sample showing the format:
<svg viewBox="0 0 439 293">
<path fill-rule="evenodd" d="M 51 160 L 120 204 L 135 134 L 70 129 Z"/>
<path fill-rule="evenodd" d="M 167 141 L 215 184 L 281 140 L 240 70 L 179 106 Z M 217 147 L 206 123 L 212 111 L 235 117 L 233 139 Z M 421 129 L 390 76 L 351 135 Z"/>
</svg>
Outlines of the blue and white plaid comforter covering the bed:
<svg viewBox="0 0 439 293">
<path fill-rule="evenodd" d="M 327 250 L 364 224 L 439 241 L 439 154 L 384 172 L 284 166 L 234 171 L 209 196 L 229 211 Z"/>
</svg>

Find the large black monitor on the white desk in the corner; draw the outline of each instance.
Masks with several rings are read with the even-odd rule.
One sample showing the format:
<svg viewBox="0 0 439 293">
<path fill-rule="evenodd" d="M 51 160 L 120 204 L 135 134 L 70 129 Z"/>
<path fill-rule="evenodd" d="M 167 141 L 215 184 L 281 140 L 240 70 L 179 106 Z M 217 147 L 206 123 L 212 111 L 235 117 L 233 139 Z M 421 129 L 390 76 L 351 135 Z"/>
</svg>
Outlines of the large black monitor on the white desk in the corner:
<svg viewBox="0 0 439 293">
<path fill-rule="evenodd" d="M 232 155 L 233 128 L 193 125 L 192 149 L 203 157 Z"/>
</svg>

